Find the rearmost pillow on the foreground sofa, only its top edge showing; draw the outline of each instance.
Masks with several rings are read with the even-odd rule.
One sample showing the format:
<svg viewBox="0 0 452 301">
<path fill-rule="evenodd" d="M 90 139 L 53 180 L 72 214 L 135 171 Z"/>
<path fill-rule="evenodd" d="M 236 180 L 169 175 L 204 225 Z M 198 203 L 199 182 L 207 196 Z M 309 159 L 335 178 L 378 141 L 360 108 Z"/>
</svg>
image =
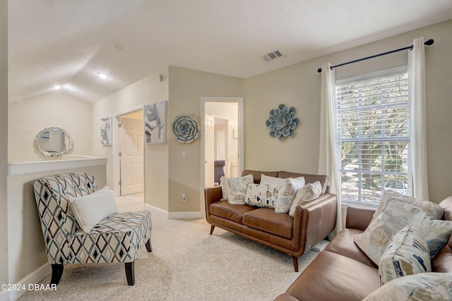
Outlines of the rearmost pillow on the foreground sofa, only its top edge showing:
<svg viewBox="0 0 452 301">
<path fill-rule="evenodd" d="M 388 199 L 398 199 L 399 201 L 403 201 L 404 203 L 409 203 L 412 206 L 416 206 L 432 215 L 436 220 L 441 220 L 441 217 L 443 216 L 444 209 L 437 203 L 415 199 L 412 198 L 411 196 L 399 194 L 397 191 L 385 190 L 383 192 L 383 196 L 381 196 L 381 201 L 379 203 L 378 208 L 376 208 L 374 217 L 372 218 L 371 222 L 373 222 L 376 219 L 376 217 L 380 215 L 381 210 L 383 209 L 383 206 Z"/>
</svg>

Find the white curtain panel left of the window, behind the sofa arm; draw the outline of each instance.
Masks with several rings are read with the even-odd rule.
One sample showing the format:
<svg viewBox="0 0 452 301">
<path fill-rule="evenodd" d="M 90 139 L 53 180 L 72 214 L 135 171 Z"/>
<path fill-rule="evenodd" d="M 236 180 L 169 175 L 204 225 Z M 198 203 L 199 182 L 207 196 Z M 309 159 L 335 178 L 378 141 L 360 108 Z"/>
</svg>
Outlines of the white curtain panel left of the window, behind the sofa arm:
<svg viewBox="0 0 452 301">
<path fill-rule="evenodd" d="M 335 104 L 335 71 L 331 64 L 322 66 L 321 78 L 321 111 L 320 111 L 320 151 L 319 175 L 329 178 L 330 192 L 338 196 L 338 218 L 336 219 L 337 234 L 342 230 L 342 208 L 340 206 L 340 179 L 338 172 L 338 157 L 336 153 L 336 104 Z"/>
</svg>

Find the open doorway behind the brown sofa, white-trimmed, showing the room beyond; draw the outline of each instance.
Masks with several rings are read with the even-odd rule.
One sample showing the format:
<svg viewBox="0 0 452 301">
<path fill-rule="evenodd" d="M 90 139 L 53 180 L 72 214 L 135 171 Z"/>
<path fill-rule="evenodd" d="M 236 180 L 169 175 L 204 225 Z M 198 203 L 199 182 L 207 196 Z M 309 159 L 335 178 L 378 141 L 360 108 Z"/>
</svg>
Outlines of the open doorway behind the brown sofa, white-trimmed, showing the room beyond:
<svg viewBox="0 0 452 301">
<path fill-rule="evenodd" d="M 201 98 L 201 191 L 220 184 L 215 165 L 229 177 L 243 170 L 243 98 Z M 223 162 L 221 162 L 223 161 Z M 223 166 L 218 166 L 222 165 Z M 201 208 L 203 196 L 201 197 Z"/>
</svg>

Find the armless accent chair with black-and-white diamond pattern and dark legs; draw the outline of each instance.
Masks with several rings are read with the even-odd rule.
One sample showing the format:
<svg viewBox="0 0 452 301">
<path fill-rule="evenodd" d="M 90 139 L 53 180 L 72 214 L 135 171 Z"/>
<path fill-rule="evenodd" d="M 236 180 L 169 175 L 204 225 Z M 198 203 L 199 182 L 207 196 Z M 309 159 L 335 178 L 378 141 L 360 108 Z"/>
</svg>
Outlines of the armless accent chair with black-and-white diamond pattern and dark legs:
<svg viewBox="0 0 452 301">
<path fill-rule="evenodd" d="M 33 188 L 52 265 L 50 283 L 59 283 L 64 264 L 124 262 L 127 283 L 135 284 L 134 260 L 143 247 L 152 252 L 149 211 L 113 213 L 86 233 L 73 216 L 69 197 L 96 191 L 93 175 L 71 172 L 43 177 L 33 182 Z"/>
</svg>

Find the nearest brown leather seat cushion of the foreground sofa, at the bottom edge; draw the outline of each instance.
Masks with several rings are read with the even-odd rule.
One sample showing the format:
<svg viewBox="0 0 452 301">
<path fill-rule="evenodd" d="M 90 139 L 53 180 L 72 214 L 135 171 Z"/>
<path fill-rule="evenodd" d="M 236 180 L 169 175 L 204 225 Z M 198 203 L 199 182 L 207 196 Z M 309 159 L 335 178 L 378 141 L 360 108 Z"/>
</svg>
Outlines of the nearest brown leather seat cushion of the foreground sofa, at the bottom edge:
<svg viewBox="0 0 452 301">
<path fill-rule="evenodd" d="M 379 287 L 378 269 L 323 251 L 286 293 L 299 300 L 362 300 Z"/>
</svg>

